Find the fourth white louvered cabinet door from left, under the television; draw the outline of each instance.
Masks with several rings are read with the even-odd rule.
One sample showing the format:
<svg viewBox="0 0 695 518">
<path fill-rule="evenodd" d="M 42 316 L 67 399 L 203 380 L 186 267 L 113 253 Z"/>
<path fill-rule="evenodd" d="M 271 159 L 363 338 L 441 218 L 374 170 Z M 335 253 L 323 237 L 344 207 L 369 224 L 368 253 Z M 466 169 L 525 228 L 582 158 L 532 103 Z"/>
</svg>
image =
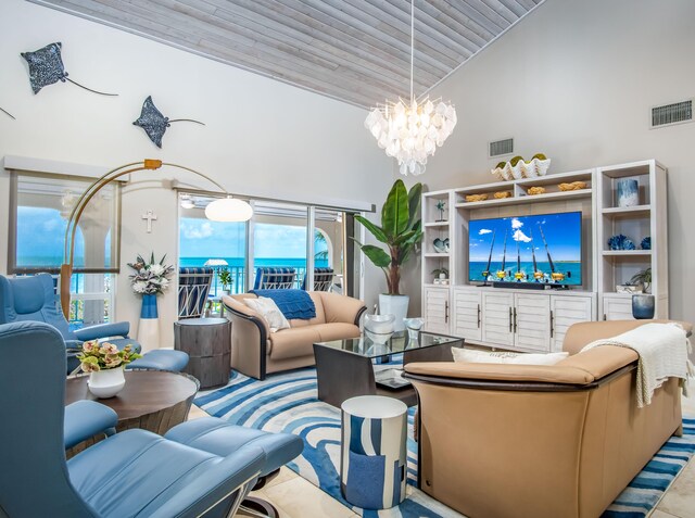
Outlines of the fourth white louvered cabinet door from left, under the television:
<svg viewBox="0 0 695 518">
<path fill-rule="evenodd" d="M 514 295 L 515 346 L 547 352 L 551 341 L 551 298 L 516 293 Z"/>
</svg>

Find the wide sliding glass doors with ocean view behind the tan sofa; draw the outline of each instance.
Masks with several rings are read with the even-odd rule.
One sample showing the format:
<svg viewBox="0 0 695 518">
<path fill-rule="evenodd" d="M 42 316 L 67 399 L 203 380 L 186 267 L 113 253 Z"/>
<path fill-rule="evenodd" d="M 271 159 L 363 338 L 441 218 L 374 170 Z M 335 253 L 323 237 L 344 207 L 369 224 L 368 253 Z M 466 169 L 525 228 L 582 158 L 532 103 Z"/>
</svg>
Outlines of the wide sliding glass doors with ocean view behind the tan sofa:
<svg viewBox="0 0 695 518">
<path fill-rule="evenodd" d="M 260 267 L 293 268 L 294 288 L 308 283 L 308 267 L 330 268 L 329 273 L 314 270 L 315 276 L 320 271 L 328 279 L 320 285 L 315 278 L 314 289 L 343 292 L 345 271 L 358 264 L 354 263 L 353 254 L 345 253 L 344 222 L 352 218 L 350 214 L 305 204 L 253 200 L 254 216 L 250 222 L 216 223 L 204 215 L 211 200 L 194 193 L 179 194 L 179 266 L 208 265 L 217 274 L 229 270 L 232 294 L 252 289 Z M 313 241 L 311 257 L 307 236 Z M 210 291 L 214 301 L 222 289 L 216 275 Z M 352 286 L 345 290 L 346 294 L 353 292 Z"/>
</svg>

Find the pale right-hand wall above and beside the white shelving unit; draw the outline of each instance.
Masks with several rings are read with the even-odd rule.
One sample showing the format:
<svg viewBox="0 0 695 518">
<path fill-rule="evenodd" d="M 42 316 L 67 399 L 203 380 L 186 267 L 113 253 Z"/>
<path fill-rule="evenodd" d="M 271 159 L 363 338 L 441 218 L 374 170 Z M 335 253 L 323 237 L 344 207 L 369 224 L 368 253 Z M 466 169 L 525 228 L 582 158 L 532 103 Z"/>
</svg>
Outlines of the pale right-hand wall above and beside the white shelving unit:
<svg viewBox="0 0 695 518">
<path fill-rule="evenodd" d="M 650 106 L 695 97 L 692 0 L 547 0 L 442 83 L 458 125 L 430 190 L 492 181 L 488 142 L 543 152 L 552 173 L 642 159 L 668 169 L 671 317 L 695 321 L 695 124 L 648 129 Z"/>
</svg>

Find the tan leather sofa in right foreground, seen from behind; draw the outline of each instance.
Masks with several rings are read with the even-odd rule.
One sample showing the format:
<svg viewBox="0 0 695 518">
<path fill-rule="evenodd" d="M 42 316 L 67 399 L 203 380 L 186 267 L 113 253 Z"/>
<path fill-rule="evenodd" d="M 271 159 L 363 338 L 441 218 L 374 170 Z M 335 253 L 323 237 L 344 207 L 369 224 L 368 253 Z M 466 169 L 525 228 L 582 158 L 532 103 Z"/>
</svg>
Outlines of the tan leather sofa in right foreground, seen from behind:
<svg viewBox="0 0 695 518">
<path fill-rule="evenodd" d="M 420 489 L 469 518 L 601 516 L 682 434 L 678 380 L 637 408 L 634 351 L 577 354 L 645 321 L 577 324 L 570 356 L 554 366 L 406 365 L 420 403 Z"/>
</svg>

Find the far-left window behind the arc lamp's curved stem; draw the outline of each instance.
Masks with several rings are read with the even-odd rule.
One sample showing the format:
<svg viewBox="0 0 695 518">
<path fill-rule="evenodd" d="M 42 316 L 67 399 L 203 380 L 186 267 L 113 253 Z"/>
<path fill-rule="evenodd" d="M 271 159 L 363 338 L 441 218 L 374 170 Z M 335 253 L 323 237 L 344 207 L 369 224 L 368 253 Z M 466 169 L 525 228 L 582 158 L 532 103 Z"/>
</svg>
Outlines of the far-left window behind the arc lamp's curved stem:
<svg viewBox="0 0 695 518">
<path fill-rule="evenodd" d="M 89 178 L 12 172 L 8 270 L 58 275 L 65 229 Z M 73 327 L 109 321 L 113 276 L 118 271 L 121 188 L 103 188 L 87 205 L 75 236 L 70 320 Z"/>
</svg>

